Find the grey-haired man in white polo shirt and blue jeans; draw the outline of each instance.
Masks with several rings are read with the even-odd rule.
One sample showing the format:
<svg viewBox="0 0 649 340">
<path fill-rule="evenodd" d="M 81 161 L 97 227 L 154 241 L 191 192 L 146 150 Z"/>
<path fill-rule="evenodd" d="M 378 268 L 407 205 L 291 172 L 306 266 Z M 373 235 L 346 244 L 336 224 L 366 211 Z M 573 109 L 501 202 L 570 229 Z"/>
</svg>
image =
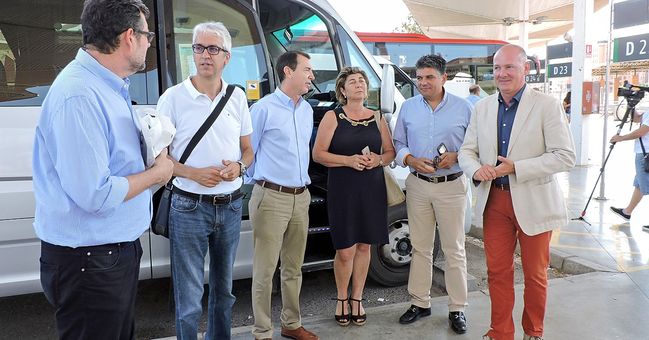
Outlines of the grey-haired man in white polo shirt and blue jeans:
<svg viewBox="0 0 649 340">
<path fill-rule="evenodd" d="M 222 23 L 193 30 L 197 75 L 169 88 L 158 101 L 160 114 L 177 129 L 169 147 L 174 163 L 169 212 L 171 271 L 178 340 L 197 338 L 202 314 L 204 261 L 210 250 L 210 299 L 205 339 L 230 339 L 232 265 L 241 228 L 241 176 L 254 157 L 252 124 L 243 90 L 234 88 L 223 111 L 184 164 L 182 153 L 199 127 L 226 96 L 221 78 L 232 38 Z"/>
</svg>

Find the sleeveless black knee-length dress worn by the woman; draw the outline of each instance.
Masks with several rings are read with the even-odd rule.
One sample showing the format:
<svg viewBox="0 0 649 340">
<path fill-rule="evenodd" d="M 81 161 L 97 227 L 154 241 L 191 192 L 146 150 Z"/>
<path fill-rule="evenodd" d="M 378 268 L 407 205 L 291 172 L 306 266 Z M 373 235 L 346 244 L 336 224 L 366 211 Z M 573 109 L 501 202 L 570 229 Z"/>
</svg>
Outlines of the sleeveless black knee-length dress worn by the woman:
<svg viewBox="0 0 649 340">
<path fill-rule="evenodd" d="M 340 117 L 345 114 L 342 108 L 334 113 L 338 126 L 330 153 L 361 155 L 365 146 L 374 153 L 381 152 L 381 135 L 374 118 L 360 120 L 354 126 Z M 346 249 L 356 243 L 387 244 L 387 192 L 382 166 L 361 171 L 349 166 L 329 168 L 327 206 L 334 248 Z"/>
</svg>

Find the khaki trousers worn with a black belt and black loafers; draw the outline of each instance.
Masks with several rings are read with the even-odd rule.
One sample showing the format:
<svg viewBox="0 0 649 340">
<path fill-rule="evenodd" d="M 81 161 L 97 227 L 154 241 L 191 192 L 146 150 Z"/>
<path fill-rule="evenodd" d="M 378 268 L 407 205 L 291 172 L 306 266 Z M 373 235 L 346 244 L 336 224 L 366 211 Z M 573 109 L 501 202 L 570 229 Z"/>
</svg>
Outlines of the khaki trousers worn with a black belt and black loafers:
<svg viewBox="0 0 649 340">
<path fill-rule="evenodd" d="M 467 256 L 464 251 L 464 220 L 467 211 L 467 179 L 430 183 L 410 174 L 406 178 L 406 205 L 413 246 L 408 292 L 411 304 L 430 307 L 433 280 L 435 222 L 446 263 L 448 311 L 464 311 L 467 304 Z"/>
</svg>

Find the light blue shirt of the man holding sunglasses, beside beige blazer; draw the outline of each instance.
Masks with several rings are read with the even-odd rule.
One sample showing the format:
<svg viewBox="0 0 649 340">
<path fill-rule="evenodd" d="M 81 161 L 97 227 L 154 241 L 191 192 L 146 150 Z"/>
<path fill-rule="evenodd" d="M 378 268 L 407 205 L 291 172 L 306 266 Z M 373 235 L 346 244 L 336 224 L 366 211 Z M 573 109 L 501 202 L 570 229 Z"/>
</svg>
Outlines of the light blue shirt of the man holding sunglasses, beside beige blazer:
<svg viewBox="0 0 649 340">
<path fill-rule="evenodd" d="M 426 99 L 420 94 L 408 98 L 401 105 L 393 142 L 400 166 L 404 164 L 404 157 L 410 153 L 415 158 L 427 158 L 432 161 L 438 156 L 437 146 L 444 143 L 448 152 L 458 152 L 464 141 L 464 135 L 471 122 L 473 104 L 467 99 L 455 96 L 444 91 L 441 103 L 435 110 L 431 110 Z M 415 171 L 410 167 L 410 171 Z M 462 171 L 459 164 L 455 163 L 450 169 L 438 169 L 430 175 L 448 175 Z"/>
</svg>

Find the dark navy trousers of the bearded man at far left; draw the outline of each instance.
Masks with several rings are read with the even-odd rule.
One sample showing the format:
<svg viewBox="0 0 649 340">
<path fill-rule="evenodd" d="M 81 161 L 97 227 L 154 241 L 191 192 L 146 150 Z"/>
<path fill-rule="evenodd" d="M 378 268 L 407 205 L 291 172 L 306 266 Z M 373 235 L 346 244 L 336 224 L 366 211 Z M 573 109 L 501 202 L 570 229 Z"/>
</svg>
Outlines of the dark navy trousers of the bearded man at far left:
<svg viewBox="0 0 649 340">
<path fill-rule="evenodd" d="M 132 242 L 69 248 L 41 241 L 43 292 L 60 340 L 134 340 L 142 247 Z"/>
</svg>

